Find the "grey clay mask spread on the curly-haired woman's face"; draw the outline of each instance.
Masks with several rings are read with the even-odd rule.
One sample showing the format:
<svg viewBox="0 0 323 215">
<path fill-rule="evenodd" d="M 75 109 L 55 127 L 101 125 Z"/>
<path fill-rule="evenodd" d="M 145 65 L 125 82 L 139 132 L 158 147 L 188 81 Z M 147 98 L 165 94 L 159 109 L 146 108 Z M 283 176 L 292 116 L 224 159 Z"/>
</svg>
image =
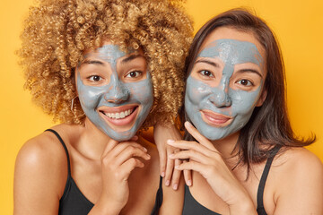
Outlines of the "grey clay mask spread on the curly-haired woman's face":
<svg viewBox="0 0 323 215">
<path fill-rule="evenodd" d="M 104 45 L 94 55 L 109 64 L 109 83 L 101 86 L 86 85 L 78 71 L 76 82 L 81 106 L 85 115 L 103 133 L 116 141 L 127 141 L 143 125 L 153 106 L 150 73 L 146 72 L 145 77 L 138 82 L 124 82 L 118 74 L 117 63 L 127 53 L 120 51 L 118 46 Z"/>
</svg>

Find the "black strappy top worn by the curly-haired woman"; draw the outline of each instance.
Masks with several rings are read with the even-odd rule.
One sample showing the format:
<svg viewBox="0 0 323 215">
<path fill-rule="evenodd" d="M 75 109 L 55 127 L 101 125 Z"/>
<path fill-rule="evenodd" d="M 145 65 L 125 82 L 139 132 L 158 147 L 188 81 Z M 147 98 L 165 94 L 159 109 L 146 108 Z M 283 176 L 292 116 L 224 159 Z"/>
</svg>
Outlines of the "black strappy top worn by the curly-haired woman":
<svg viewBox="0 0 323 215">
<path fill-rule="evenodd" d="M 68 175 L 67 175 L 67 181 L 66 181 L 63 196 L 59 200 L 58 214 L 59 215 L 88 214 L 92 210 L 92 207 L 94 206 L 94 204 L 90 202 L 83 195 L 83 193 L 75 184 L 73 177 L 71 176 L 70 159 L 69 159 L 68 150 L 66 148 L 65 142 L 62 140 L 62 138 L 59 136 L 59 134 L 56 131 L 52 129 L 48 129 L 46 131 L 54 133 L 57 136 L 59 142 L 61 142 L 64 147 L 66 157 L 67 157 Z M 158 211 L 161 208 L 161 206 L 162 206 L 162 177 L 160 178 L 160 185 L 156 193 L 156 201 L 153 206 L 153 211 L 151 214 L 152 215 L 158 214 Z"/>
</svg>

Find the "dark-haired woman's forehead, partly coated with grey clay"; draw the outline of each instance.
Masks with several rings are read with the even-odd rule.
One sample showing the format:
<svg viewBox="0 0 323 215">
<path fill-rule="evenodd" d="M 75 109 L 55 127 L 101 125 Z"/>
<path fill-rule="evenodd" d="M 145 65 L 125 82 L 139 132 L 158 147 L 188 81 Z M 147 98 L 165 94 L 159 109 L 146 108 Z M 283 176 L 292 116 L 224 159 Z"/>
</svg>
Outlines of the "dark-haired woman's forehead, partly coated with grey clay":
<svg viewBox="0 0 323 215">
<path fill-rule="evenodd" d="M 207 49 L 208 51 L 204 51 Z M 221 27 L 212 31 L 205 38 L 198 52 L 200 54 L 199 56 L 202 57 L 211 55 L 211 53 L 214 56 L 224 55 L 223 57 L 226 57 L 225 55 L 243 57 L 248 54 L 255 56 L 256 59 L 262 59 L 261 63 L 263 64 L 265 64 L 264 61 L 266 59 L 265 49 L 252 33 L 228 27 Z"/>
</svg>

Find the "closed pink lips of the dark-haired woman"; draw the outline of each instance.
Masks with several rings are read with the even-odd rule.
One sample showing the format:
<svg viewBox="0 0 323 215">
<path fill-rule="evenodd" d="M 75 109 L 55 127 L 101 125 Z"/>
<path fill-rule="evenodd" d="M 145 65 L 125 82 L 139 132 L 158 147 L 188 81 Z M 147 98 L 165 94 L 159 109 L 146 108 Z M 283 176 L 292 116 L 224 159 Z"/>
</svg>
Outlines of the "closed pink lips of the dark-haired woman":
<svg viewBox="0 0 323 215">
<path fill-rule="evenodd" d="M 217 114 L 210 110 L 204 109 L 200 112 L 205 123 L 214 127 L 225 127 L 230 125 L 233 120 L 231 116 Z"/>
</svg>

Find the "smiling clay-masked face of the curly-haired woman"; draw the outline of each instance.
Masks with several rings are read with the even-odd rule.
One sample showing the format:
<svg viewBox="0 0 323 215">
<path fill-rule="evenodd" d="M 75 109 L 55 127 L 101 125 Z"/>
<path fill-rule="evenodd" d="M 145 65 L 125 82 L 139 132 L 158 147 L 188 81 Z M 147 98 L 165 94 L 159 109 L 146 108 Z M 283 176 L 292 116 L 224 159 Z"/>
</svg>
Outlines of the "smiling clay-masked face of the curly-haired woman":
<svg viewBox="0 0 323 215">
<path fill-rule="evenodd" d="M 76 71 L 77 93 L 93 125 L 116 141 L 131 139 L 153 106 L 153 84 L 141 50 L 105 43 L 84 55 Z"/>
</svg>

